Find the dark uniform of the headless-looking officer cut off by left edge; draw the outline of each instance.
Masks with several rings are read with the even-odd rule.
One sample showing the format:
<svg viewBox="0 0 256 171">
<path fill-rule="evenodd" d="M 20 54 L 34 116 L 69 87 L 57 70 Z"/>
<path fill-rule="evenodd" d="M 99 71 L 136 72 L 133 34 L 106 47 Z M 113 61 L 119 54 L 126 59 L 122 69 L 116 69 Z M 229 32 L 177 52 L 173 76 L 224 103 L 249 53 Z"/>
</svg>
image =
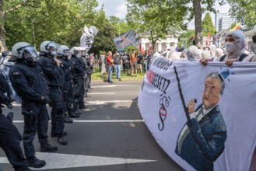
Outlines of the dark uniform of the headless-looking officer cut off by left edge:
<svg viewBox="0 0 256 171">
<path fill-rule="evenodd" d="M 16 171 L 29 171 L 23 150 L 20 148 L 21 134 L 12 124 L 13 113 L 7 117 L 2 113 L 2 104 L 10 105 L 11 101 L 5 93 L 9 92 L 9 84 L 5 76 L 0 72 L 0 147 L 4 150 L 7 159 Z"/>
</svg>

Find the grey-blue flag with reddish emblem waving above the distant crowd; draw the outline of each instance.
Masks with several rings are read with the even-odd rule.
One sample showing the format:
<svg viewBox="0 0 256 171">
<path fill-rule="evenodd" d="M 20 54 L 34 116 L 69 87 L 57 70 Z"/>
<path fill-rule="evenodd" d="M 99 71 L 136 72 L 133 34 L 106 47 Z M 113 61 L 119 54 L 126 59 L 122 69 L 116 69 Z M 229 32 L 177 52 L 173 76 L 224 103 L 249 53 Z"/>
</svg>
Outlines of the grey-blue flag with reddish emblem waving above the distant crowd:
<svg viewBox="0 0 256 171">
<path fill-rule="evenodd" d="M 113 41 L 118 51 L 122 51 L 125 47 L 136 44 L 135 35 L 132 33 L 132 30 L 129 30 L 120 37 L 115 37 Z"/>
</svg>

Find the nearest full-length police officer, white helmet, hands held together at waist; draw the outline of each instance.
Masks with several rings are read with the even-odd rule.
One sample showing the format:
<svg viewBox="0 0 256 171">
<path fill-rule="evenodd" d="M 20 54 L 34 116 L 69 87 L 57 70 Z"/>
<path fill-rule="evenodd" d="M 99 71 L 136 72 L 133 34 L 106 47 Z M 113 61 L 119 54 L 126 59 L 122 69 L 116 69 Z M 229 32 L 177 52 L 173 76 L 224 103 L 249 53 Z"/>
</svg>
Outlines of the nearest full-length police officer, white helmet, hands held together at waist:
<svg viewBox="0 0 256 171">
<path fill-rule="evenodd" d="M 33 146 L 33 139 L 38 135 L 40 152 L 54 152 L 57 146 L 48 142 L 47 130 L 49 115 L 46 103 L 49 101 L 48 88 L 43 72 L 34 59 L 37 51 L 26 42 L 19 42 L 12 47 L 12 58 L 16 61 L 9 72 L 13 89 L 22 98 L 22 114 L 24 117 L 23 146 L 26 160 L 30 167 L 43 167 L 44 160 L 37 159 Z"/>
</svg>

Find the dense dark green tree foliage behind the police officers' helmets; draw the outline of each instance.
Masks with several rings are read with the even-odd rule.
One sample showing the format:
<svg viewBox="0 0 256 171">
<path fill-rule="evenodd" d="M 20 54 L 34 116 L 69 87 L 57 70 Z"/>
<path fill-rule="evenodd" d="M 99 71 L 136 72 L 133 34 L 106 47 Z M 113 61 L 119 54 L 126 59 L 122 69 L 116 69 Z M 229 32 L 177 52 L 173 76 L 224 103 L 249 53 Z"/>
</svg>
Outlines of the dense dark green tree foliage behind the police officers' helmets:
<svg viewBox="0 0 256 171">
<path fill-rule="evenodd" d="M 26 41 L 39 47 L 44 40 L 54 40 L 68 47 L 79 46 L 84 25 L 91 26 L 96 18 L 97 5 L 96 0 L 42 0 L 37 9 L 26 6 L 16 10 L 6 16 L 7 43 L 11 47 Z"/>
</svg>

